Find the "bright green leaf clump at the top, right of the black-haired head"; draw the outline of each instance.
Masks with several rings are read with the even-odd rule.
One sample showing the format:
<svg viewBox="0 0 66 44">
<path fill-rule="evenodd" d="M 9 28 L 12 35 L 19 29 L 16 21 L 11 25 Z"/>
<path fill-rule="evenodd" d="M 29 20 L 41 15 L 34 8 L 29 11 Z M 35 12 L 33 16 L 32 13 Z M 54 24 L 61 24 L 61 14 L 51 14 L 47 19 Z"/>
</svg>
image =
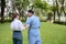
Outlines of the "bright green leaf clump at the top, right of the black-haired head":
<svg viewBox="0 0 66 44">
<path fill-rule="evenodd" d="M 34 8 L 40 8 L 42 10 L 48 9 L 48 3 L 45 1 L 41 1 L 41 0 L 35 0 L 33 6 L 34 6 Z"/>
</svg>

